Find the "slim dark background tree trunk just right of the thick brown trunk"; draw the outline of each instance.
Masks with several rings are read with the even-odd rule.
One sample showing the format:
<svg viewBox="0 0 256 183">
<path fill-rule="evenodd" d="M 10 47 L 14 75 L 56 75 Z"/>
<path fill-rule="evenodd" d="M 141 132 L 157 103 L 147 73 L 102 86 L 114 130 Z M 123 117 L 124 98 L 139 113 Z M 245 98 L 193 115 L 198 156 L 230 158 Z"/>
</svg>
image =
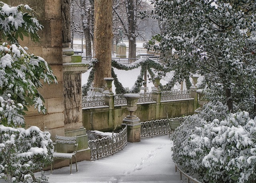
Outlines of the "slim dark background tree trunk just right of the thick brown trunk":
<svg viewBox="0 0 256 183">
<path fill-rule="evenodd" d="M 133 0 L 127 0 L 127 14 L 128 14 L 128 39 L 129 39 L 129 53 L 128 58 L 136 58 L 136 35 L 134 22 L 134 4 Z"/>
</svg>

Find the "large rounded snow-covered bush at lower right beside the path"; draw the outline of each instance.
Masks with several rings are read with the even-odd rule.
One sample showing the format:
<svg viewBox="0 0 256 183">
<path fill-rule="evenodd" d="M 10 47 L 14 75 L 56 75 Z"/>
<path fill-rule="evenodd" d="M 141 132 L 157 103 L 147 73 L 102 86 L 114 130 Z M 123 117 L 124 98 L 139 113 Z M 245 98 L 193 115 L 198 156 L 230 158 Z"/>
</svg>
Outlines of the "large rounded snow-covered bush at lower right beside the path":
<svg viewBox="0 0 256 183">
<path fill-rule="evenodd" d="M 252 182 L 256 179 L 256 118 L 251 119 L 248 112 L 223 118 L 225 109 L 220 104 L 208 107 L 208 116 L 188 116 L 172 134 L 172 158 L 206 183 Z"/>
</svg>

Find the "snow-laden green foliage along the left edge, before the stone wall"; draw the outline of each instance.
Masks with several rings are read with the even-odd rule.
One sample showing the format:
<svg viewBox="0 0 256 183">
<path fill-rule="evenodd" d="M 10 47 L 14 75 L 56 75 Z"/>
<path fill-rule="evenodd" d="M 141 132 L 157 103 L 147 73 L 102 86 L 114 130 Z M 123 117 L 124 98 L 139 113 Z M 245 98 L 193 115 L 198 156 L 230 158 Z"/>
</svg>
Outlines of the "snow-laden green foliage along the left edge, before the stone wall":
<svg viewBox="0 0 256 183">
<path fill-rule="evenodd" d="M 53 153 L 49 132 L 35 126 L 24 129 L 28 106 L 46 112 L 38 92 L 41 82 L 57 83 L 47 62 L 18 44 L 24 35 L 40 39 L 37 31 L 42 25 L 32 12 L 28 5 L 11 7 L 0 2 L 0 41 L 9 41 L 0 45 L 0 179 L 9 175 L 13 182 L 40 181 L 34 171 L 49 165 Z"/>
</svg>

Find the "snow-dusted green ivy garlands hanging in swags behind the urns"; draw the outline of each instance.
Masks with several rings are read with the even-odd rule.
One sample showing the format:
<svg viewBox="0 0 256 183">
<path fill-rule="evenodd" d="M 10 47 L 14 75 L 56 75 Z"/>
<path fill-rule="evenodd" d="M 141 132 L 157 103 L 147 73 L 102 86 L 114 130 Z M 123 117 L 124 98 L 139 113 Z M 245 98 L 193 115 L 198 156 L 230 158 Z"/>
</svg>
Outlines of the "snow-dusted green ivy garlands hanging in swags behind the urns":
<svg viewBox="0 0 256 183">
<path fill-rule="evenodd" d="M 97 63 L 98 60 L 97 59 L 92 59 L 90 61 L 90 65 L 88 67 L 88 69 L 92 70 L 90 71 L 89 77 L 88 77 L 88 81 L 85 85 L 82 86 L 82 94 L 83 96 L 87 96 L 89 89 L 92 86 L 92 82 L 94 80 L 94 73 L 96 72 L 96 69 L 94 67 L 95 63 Z M 142 59 L 138 59 L 137 61 L 135 61 L 134 63 L 131 63 L 129 65 L 123 64 L 123 63 L 119 63 L 116 60 L 112 59 L 112 69 L 111 69 L 111 74 L 112 77 L 114 78 L 114 85 L 116 87 L 116 94 L 122 94 L 122 93 L 127 93 L 128 91 L 126 91 L 126 89 L 123 87 L 122 83 L 120 83 L 118 81 L 117 75 L 114 73 L 114 69 L 119 69 L 119 70 L 125 70 L 125 71 L 130 71 L 132 69 L 136 69 L 138 67 L 141 67 L 140 70 L 140 75 L 138 75 L 137 80 L 134 83 L 134 86 L 132 87 L 132 89 L 129 91 L 131 93 L 138 93 L 140 92 L 140 87 L 142 87 L 142 85 L 144 85 L 144 83 L 146 81 L 144 81 L 143 77 L 144 77 L 144 73 L 147 70 L 152 82 L 154 82 L 154 77 L 155 74 L 152 71 L 152 68 L 155 71 L 158 71 L 158 75 L 163 75 L 162 73 L 166 73 L 169 72 L 170 69 L 167 67 L 164 67 L 162 64 L 158 63 L 157 61 L 154 61 L 152 59 L 149 59 L 148 57 L 142 58 Z M 180 79 L 178 78 L 178 75 L 176 75 L 174 73 L 174 77 L 172 78 L 171 81 L 169 81 L 166 84 L 166 90 L 171 90 L 174 87 L 174 84 L 176 83 L 176 81 L 179 81 Z M 186 86 L 187 88 L 189 88 L 191 86 L 190 80 L 189 78 L 185 79 L 186 82 Z M 160 86 L 162 88 L 162 85 Z"/>
</svg>

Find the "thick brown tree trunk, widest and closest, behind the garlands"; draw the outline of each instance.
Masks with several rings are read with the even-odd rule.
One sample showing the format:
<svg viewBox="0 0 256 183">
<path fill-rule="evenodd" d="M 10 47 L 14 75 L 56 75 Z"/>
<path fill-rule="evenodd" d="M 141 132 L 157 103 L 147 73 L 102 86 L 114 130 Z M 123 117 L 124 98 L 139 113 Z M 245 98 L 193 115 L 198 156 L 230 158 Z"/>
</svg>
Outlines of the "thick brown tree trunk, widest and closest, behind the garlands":
<svg viewBox="0 0 256 183">
<path fill-rule="evenodd" d="M 104 77 L 111 77 L 112 0 L 94 0 L 94 88 L 105 89 Z"/>
</svg>

